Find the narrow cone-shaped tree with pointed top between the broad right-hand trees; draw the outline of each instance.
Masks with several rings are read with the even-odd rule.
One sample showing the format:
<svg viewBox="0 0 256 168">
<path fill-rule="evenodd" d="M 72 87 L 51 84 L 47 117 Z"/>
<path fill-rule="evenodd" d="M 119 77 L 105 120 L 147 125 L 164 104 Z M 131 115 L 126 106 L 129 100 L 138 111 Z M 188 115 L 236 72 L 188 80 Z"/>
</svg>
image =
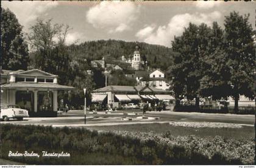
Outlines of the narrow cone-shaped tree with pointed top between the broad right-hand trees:
<svg viewBox="0 0 256 168">
<path fill-rule="evenodd" d="M 226 66 L 229 60 L 224 51 L 224 30 L 213 22 L 210 32 L 208 55 L 204 58 L 205 69 L 200 89 L 202 96 L 212 96 L 213 99 L 227 97 L 231 93 L 230 68 Z"/>
</svg>

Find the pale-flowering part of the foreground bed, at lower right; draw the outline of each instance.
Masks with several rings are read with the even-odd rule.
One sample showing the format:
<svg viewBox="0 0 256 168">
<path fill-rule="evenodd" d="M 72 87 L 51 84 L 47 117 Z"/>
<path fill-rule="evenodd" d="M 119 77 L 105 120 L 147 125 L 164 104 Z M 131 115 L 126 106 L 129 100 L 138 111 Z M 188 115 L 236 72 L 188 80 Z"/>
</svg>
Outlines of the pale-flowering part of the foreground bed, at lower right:
<svg viewBox="0 0 256 168">
<path fill-rule="evenodd" d="M 177 136 L 174 137 L 170 132 L 164 134 L 156 133 L 134 133 L 130 131 L 115 131 L 118 135 L 131 136 L 141 139 L 142 142 L 152 141 L 158 144 L 168 144 L 170 147 L 179 147 L 185 149 L 186 155 L 192 156 L 192 153 L 200 153 L 210 160 L 216 161 L 226 159 L 226 161 L 235 164 L 253 164 L 255 156 L 255 141 L 224 139 L 221 136 L 215 138 L 197 138 L 196 136 Z M 218 164 L 218 161 L 213 164 Z"/>
</svg>

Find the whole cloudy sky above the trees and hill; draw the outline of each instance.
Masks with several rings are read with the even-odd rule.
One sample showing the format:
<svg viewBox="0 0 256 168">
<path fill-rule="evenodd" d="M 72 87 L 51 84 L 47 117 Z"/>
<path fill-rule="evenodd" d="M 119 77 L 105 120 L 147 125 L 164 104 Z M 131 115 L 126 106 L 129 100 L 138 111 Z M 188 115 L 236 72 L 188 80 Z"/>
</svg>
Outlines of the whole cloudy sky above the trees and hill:
<svg viewBox="0 0 256 168">
<path fill-rule="evenodd" d="M 241 15 L 250 13 L 255 29 L 255 2 L 219 1 L 4 1 L 2 7 L 15 13 L 23 31 L 37 18 L 52 19 L 53 23 L 68 24 L 66 43 L 91 40 L 143 41 L 171 46 L 188 23 L 217 21 L 222 27 L 226 15 L 233 10 Z"/>
</svg>

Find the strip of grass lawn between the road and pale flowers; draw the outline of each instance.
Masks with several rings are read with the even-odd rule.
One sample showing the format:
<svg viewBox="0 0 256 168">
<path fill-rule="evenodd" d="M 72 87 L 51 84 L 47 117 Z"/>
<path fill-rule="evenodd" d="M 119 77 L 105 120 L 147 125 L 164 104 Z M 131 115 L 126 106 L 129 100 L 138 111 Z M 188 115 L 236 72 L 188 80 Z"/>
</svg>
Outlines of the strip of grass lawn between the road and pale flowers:
<svg viewBox="0 0 256 168">
<path fill-rule="evenodd" d="M 169 131 L 173 136 L 195 135 L 200 138 L 211 138 L 222 136 L 232 139 L 253 139 L 254 127 L 243 126 L 242 128 L 191 128 L 191 127 L 174 127 L 165 124 L 133 124 L 133 125 L 111 125 L 111 126 L 94 126 L 88 127 L 91 130 L 103 131 L 132 131 L 132 132 L 155 132 L 166 133 Z"/>
</svg>

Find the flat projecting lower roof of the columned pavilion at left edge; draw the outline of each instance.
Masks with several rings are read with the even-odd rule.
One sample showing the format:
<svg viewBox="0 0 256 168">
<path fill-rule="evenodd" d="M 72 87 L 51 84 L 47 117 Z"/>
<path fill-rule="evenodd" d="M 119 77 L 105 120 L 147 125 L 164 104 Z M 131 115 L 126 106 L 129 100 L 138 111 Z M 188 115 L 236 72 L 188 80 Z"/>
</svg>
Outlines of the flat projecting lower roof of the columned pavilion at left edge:
<svg viewBox="0 0 256 168">
<path fill-rule="evenodd" d="M 42 88 L 42 89 L 54 89 L 54 90 L 73 90 L 72 86 L 59 85 L 57 83 L 26 83 L 26 82 L 13 82 L 1 85 L 3 89 L 18 89 L 18 88 Z"/>
</svg>

